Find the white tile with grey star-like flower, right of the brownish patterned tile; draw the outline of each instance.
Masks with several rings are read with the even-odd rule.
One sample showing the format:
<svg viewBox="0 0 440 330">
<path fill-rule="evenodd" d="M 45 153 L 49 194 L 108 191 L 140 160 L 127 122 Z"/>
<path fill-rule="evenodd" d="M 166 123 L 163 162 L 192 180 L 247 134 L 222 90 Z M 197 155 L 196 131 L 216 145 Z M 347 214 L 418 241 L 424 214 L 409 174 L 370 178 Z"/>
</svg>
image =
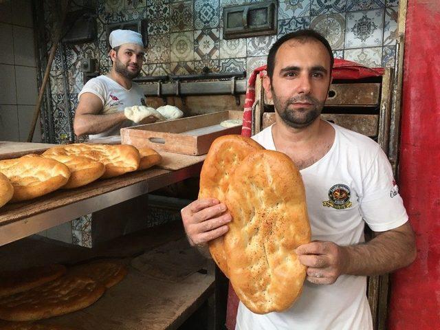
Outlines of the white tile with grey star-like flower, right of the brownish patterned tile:
<svg viewBox="0 0 440 330">
<path fill-rule="evenodd" d="M 384 10 L 347 12 L 345 48 L 382 45 Z"/>
</svg>

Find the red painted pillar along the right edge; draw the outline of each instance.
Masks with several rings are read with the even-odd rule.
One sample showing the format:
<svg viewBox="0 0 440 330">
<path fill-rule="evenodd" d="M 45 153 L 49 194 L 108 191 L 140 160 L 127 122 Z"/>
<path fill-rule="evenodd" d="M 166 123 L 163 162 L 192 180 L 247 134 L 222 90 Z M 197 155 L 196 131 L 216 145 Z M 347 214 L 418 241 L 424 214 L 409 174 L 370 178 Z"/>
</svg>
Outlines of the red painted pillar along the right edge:
<svg viewBox="0 0 440 330">
<path fill-rule="evenodd" d="M 405 0 L 401 0 L 405 1 Z M 392 276 L 390 330 L 440 329 L 440 1 L 409 0 L 399 188 L 415 263 Z"/>
</svg>

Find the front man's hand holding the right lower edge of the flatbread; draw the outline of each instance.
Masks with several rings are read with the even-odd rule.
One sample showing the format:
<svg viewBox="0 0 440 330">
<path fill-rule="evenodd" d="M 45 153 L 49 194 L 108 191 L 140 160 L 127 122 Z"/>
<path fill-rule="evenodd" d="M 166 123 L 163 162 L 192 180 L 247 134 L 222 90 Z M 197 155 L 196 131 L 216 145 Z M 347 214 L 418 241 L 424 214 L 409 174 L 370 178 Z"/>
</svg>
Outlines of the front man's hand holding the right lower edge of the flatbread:
<svg viewBox="0 0 440 330">
<path fill-rule="evenodd" d="M 300 263 L 309 267 L 307 281 L 316 284 L 333 284 L 344 273 L 347 254 L 343 247 L 323 241 L 313 241 L 296 248 Z"/>
</svg>

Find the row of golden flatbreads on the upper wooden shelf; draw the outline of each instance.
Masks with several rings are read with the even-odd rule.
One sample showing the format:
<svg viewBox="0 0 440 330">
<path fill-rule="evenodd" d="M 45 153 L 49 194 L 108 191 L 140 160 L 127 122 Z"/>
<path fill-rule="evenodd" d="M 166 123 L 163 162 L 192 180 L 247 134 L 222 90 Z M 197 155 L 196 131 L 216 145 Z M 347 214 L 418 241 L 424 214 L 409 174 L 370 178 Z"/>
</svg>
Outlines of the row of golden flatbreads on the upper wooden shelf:
<svg viewBox="0 0 440 330">
<path fill-rule="evenodd" d="M 42 155 L 0 160 L 0 207 L 8 201 L 26 201 L 59 188 L 78 188 L 100 178 L 144 170 L 161 161 L 151 148 L 126 144 L 68 144 Z"/>
</svg>

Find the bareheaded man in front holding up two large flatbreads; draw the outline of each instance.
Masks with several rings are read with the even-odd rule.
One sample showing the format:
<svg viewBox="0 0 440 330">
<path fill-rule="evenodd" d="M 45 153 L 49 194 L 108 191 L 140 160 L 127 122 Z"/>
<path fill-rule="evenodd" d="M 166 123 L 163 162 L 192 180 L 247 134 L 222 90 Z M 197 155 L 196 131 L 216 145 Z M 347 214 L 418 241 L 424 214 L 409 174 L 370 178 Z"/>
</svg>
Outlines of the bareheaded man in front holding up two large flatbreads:
<svg viewBox="0 0 440 330">
<path fill-rule="evenodd" d="M 240 303 L 237 330 L 371 330 L 366 276 L 393 272 L 415 259 L 414 233 L 380 146 L 320 119 L 332 67 L 328 41 L 313 30 L 286 34 L 267 56 L 263 87 L 274 100 L 276 122 L 252 138 L 285 153 L 299 168 L 313 241 L 295 251 L 307 266 L 296 303 L 268 314 L 254 314 Z M 201 249 L 228 232 L 232 221 L 217 199 L 198 199 L 181 215 L 188 240 Z M 367 243 L 365 224 L 375 232 Z"/>
</svg>

